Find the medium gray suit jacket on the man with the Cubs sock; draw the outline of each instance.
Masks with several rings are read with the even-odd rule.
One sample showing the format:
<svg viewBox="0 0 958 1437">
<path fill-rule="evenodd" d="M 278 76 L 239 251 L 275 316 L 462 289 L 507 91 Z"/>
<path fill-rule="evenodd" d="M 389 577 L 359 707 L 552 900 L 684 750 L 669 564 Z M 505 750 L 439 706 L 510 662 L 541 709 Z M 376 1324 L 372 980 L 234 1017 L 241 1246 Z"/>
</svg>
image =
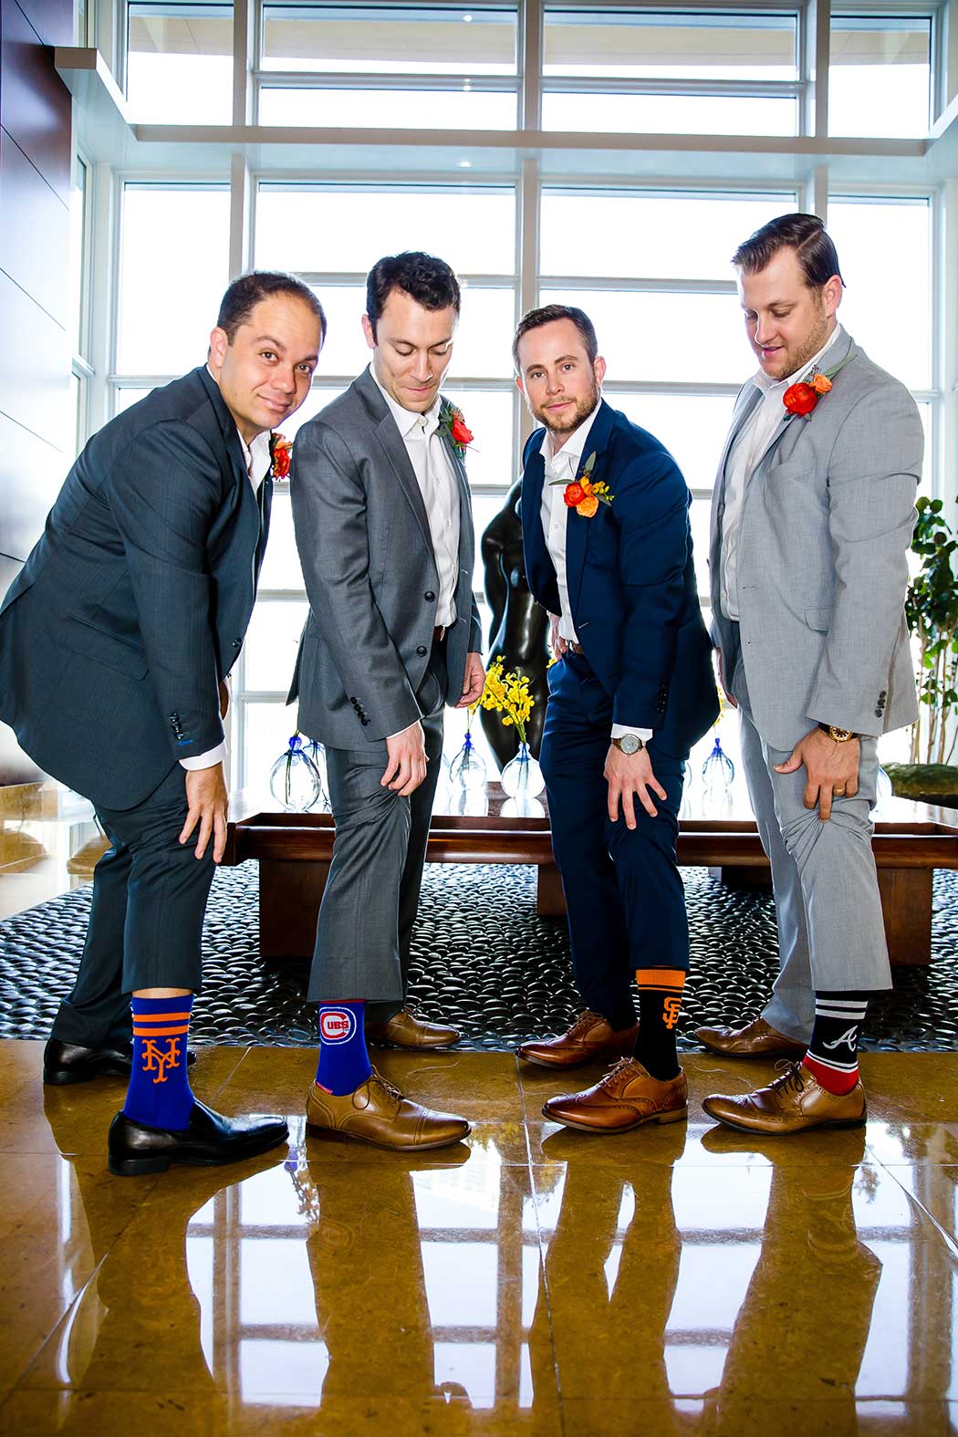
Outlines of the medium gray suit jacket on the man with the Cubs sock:
<svg viewBox="0 0 958 1437">
<path fill-rule="evenodd" d="M 447 447 L 460 490 L 457 619 L 447 691 L 421 703 L 440 576 L 415 471 L 369 369 L 296 437 L 290 494 L 310 612 L 289 697 L 310 739 L 358 749 L 408 729 L 441 697 L 462 696 L 481 629 L 465 466 Z"/>
</svg>

